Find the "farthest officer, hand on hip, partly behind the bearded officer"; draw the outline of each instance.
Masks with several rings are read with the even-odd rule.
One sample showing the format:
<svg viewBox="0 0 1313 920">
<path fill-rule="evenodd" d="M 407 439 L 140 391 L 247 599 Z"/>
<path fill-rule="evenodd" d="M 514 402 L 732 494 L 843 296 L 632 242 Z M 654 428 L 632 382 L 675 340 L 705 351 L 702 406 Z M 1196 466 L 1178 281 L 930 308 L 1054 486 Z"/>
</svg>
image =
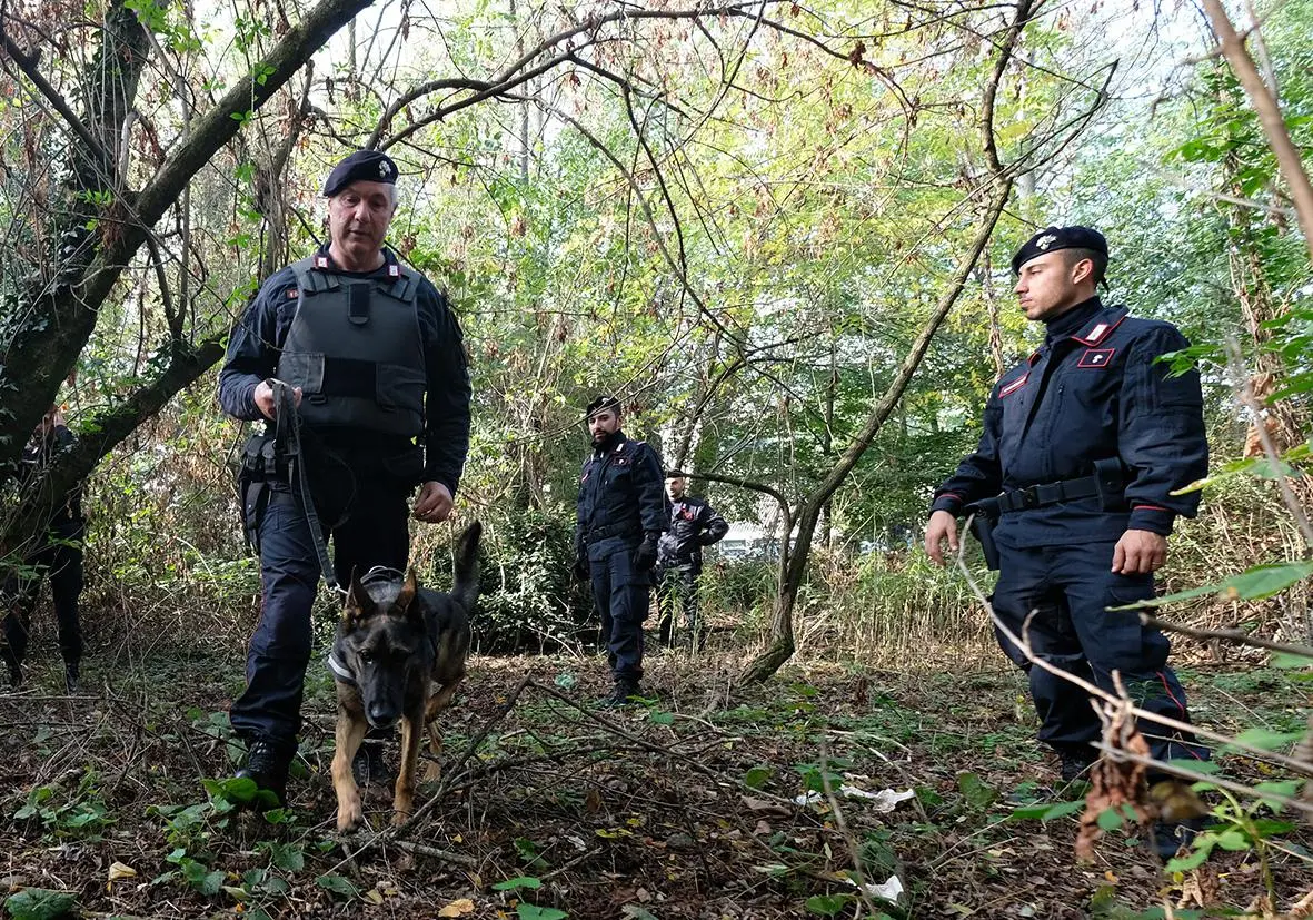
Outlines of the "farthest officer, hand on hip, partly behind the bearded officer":
<svg viewBox="0 0 1313 920">
<path fill-rule="evenodd" d="M 666 473 L 666 509 L 670 530 L 656 544 L 656 609 L 660 611 L 660 641 L 675 637 L 675 607 L 683 607 L 684 628 L 695 648 L 706 631 L 697 610 L 697 577 L 702 573 L 702 547 L 718 543 L 730 526 L 705 498 L 688 494 L 688 476 L 679 469 Z"/>
</svg>

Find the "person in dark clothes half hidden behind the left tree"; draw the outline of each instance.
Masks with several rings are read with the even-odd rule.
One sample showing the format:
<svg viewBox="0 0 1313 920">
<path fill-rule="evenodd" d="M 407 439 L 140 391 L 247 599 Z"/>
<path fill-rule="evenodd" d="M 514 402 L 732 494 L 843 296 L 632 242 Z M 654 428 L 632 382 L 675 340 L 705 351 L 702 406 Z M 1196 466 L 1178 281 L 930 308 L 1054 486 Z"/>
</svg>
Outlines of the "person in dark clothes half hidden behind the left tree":
<svg viewBox="0 0 1313 920">
<path fill-rule="evenodd" d="M 18 471 L 20 488 L 32 482 L 60 452 L 67 451 L 77 438 L 64 425 L 58 406 L 51 406 L 22 449 Z M 77 693 L 79 668 L 83 653 L 81 624 L 77 616 L 77 598 L 83 589 L 83 538 L 87 523 L 81 511 L 81 488 L 74 488 L 63 497 L 50 517 L 49 528 L 41 545 L 22 560 L 21 572 L 11 572 L 4 581 L 4 648 L 0 657 L 9 669 L 9 683 L 22 683 L 22 661 L 28 656 L 28 636 L 32 609 L 37 602 L 41 581 L 50 576 L 50 594 L 59 624 L 59 652 L 64 658 L 64 687 Z"/>
</svg>

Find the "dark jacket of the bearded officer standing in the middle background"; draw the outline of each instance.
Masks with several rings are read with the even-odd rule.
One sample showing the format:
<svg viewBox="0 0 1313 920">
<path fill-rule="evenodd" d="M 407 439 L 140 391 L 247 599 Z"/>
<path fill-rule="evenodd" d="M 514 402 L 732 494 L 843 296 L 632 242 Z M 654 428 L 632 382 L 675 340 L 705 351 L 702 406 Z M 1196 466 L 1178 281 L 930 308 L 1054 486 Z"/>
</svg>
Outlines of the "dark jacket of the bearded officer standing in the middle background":
<svg viewBox="0 0 1313 920">
<path fill-rule="evenodd" d="M 575 551 L 587 549 L 596 561 L 664 531 L 663 482 L 660 460 L 646 442 L 620 431 L 609 449 L 595 448 L 579 472 Z"/>
</svg>

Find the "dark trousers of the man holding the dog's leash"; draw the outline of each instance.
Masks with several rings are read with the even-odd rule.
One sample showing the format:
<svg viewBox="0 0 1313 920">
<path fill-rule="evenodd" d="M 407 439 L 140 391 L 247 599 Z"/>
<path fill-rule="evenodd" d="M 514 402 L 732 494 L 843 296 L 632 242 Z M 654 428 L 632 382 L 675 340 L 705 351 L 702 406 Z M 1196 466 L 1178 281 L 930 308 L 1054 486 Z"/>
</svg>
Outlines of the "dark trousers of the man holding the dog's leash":
<svg viewBox="0 0 1313 920">
<path fill-rule="evenodd" d="M 404 569 L 410 556 L 407 494 L 391 481 L 357 485 L 349 515 L 331 530 L 334 573 L 340 585 L 351 584 L 352 570 L 364 574 L 376 565 Z M 320 522 L 326 539 L 328 524 L 339 517 L 340 507 L 324 502 Z M 322 577 L 319 557 L 306 515 L 282 484 L 270 488 L 259 534 L 260 623 L 247 652 L 247 687 L 232 702 L 228 720 L 248 741 L 260 737 L 291 747 L 301 731 L 310 611 Z"/>
</svg>

